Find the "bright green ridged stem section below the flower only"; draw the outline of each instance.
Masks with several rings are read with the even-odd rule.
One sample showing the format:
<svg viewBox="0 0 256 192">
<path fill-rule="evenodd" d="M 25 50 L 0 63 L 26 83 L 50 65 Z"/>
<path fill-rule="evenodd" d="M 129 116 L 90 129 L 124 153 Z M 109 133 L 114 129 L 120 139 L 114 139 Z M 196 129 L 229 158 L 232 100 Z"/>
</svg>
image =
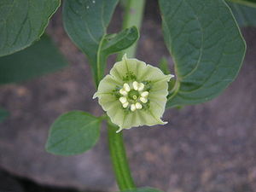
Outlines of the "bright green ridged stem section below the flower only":
<svg viewBox="0 0 256 192">
<path fill-rule="evenodd" d="M 120 190 L 136 188 L 125 154 L 125 145 L 122 132 L 116 133 L 118 127 L 108 122 L 108 145 L 113 164 L 113 171 L 116 176 Z"/>
</svg>

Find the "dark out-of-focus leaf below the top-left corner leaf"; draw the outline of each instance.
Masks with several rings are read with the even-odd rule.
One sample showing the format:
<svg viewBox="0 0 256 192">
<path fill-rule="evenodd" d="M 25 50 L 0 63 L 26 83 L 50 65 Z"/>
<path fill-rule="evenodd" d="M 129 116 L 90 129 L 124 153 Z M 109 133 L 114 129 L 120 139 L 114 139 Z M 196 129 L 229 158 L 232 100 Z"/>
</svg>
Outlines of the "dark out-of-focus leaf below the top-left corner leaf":
<svg viewBox="0 0 256 192">
<path fill-rule="evenodd" d="M 46 35 L 31 47 L 0 57 L 0 84 L 32 79 L 67 66 L 58 49 Z"/>
</svg>

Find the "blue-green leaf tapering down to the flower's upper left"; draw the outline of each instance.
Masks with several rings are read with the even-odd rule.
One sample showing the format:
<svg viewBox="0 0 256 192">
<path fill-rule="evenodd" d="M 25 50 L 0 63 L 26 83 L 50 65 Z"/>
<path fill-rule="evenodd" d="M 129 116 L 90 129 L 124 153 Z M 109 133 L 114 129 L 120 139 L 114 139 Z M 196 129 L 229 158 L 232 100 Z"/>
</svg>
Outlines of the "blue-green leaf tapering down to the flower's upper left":
<svg viewBox="0 0 256 192">
<path fill-rule="evenodd" d="M 103 76 L 100 51 L 118 0 L 73 0 L 63 6 L 64 27 L 79 49 L 87 55 L 96 84 Z"/>
</svg>

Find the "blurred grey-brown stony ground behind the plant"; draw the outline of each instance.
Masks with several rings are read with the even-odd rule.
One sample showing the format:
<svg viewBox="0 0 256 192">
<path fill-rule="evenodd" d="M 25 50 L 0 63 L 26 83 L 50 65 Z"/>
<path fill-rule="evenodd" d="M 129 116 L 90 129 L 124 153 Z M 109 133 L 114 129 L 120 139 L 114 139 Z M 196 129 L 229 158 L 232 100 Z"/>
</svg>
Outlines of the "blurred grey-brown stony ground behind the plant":
<svg viewBox="0 0 256 192">
<path fill-rule="evenodd" d="M 157 65 L 170 57 L 161 33 L 156 1 L 148 1 L 137 58 Z M 109 32 L 121 27 L 116 9 Z M 38 79 L 0 86 L 0 106 L 9 117 L 0 123 L 0 191 L 116 191 L 106 127 L 89 152 L 72 157 L 48 154 L 49 126 L 61 113 L 102 109 L 92 100 L 95 87 L 84 55 L 67 37 L 61 9 L 47 33 L 65 55 L 68 67 Z M 246 27 L 247 55 L 236 81 L 204 104 L 166 110 L 164 126 L 124 131 L 131 171 L 138 186 L 166 192 L 256 191 L 256 28 Z M 115 58 L 109 59 L 113 66 Z"/>
</svg>

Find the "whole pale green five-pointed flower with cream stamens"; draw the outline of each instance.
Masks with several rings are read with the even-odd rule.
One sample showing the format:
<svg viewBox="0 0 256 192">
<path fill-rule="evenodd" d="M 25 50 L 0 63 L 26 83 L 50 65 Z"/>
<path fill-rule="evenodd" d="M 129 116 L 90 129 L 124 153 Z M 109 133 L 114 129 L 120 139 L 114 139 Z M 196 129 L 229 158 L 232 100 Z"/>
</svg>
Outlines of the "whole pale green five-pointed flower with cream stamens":
<svg viewBox="0 0 256 192">
<path fill-rule="evenodd" d="M 172 77 L 124 55 L 102 79 L 93 98 L 98 97 L 113 124 L 119 125 L 119 131 L 142 125 L 165 125 L 167 122 L 160 118 L 166 108 L 167 82 Z"/>
</svg>

